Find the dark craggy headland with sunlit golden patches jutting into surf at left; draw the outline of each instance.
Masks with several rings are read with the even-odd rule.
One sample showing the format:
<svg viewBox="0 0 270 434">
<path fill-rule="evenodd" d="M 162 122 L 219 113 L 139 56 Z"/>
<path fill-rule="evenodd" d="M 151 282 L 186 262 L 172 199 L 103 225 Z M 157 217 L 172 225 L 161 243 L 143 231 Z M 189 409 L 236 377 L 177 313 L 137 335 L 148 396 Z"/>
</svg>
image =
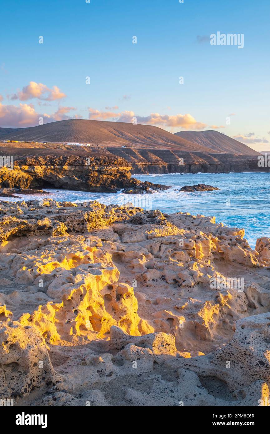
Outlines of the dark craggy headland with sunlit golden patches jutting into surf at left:
<svg viewBox="0 0 270 434">
<path fill-rule="evenodd" d="M 58 187 L 68 190 L 116 192 L 122 188 L 149 191 L 154 184 L 131 178 L 131 166 L 123 158 L 37 156 L 19 158 L 13 169 L 0 168 L 0 187 Z"/>
</svg>

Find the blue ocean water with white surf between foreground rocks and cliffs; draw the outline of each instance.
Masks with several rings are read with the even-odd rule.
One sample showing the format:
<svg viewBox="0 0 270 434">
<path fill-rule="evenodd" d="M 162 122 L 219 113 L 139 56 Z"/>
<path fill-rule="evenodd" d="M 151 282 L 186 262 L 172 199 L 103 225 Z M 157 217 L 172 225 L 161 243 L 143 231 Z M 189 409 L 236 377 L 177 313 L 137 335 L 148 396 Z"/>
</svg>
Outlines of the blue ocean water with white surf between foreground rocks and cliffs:
<svg viewBox="0 0 270 434">
<path fill-rule="evenodd" d="M 88 193 L 84 191 L 46 189 L 49 194 L 21 195 L 22 199 L 0 197 L 2 201 L 20 201 L 52 197 L 56 201 L 82 202 L 97 200 L 103 204 L 123 205 L 131 202 L 145 209 L 165 213 L 189 212 L 215 216 L 216 222 L 245 229 L 245 237 L 255 247 L 259 237 L 270 237 L 270 173 L 229 174 L 151 174 L 133 175 L 141 181 L 171 186 L 153 194 Z M 217 191 L 179 192 L 184 185 L 210 184 Z"/>
</svg>

